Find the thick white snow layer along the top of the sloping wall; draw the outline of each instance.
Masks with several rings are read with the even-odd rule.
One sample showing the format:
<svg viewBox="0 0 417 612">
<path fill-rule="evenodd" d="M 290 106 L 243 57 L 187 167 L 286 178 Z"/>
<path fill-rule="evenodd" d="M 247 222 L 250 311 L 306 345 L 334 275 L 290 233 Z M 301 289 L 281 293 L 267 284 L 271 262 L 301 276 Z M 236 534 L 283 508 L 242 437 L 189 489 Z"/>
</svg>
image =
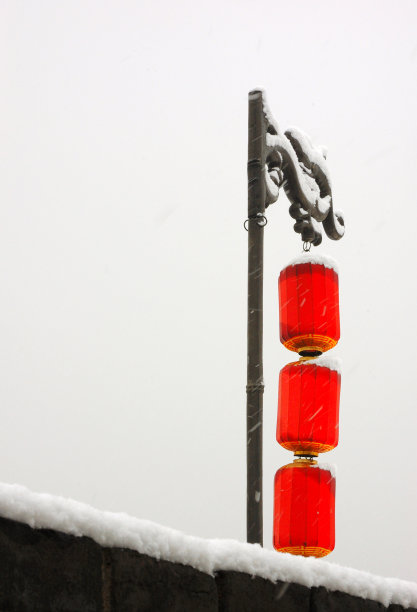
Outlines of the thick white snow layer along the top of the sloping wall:
<svg viewBox="0 0 417 612">
<path fill-rule="evenodd" d="M 373 599 L 385 606 L 417 606 L 417 584 L 382 578 L 314 558 L 264 550 L 236 540 L 205 540 L 139 520 L 122 513 L 102 512 L 91 506 L 48 494 L 33 493 L 20 485 L 0 483 L 0 515 L 30 525 L 75 536 L 88 536 L 101 546 L 130 548 L 213 575 L 234 570 L 271 581 L 296 582 L 306 587 Z"/>
</svg>

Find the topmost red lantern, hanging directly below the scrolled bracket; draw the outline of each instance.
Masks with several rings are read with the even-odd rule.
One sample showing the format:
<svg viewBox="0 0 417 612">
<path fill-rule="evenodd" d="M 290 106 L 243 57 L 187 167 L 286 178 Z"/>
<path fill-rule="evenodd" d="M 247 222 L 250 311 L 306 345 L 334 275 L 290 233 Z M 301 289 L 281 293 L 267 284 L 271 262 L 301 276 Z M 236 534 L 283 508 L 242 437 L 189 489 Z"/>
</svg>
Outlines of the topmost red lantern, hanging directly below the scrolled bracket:
<svg viewBox="0 0 417 612">
<path fill-rule="evenodd" d="M 339 281 L 330 260 L 305 256 L 281 271 L 279 314 L 281 342 L 291 351 L 322 353 L 337 344 Z"/>
</svg>

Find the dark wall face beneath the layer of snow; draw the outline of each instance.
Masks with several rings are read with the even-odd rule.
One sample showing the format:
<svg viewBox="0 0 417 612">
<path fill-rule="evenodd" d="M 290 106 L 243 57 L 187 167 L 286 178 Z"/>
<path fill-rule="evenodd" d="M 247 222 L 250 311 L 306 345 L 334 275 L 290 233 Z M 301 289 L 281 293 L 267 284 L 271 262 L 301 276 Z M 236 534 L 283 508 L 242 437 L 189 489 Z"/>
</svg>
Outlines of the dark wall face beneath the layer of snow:
<svg viewBox="0 0 417 612">
<path fill-rule="evenodd" d="M 192 567 L 0 518 L 0 612 L 400 612 L 323 587 Z M 408 608 L 417 612 L 416 608 Z"/>
</svg>

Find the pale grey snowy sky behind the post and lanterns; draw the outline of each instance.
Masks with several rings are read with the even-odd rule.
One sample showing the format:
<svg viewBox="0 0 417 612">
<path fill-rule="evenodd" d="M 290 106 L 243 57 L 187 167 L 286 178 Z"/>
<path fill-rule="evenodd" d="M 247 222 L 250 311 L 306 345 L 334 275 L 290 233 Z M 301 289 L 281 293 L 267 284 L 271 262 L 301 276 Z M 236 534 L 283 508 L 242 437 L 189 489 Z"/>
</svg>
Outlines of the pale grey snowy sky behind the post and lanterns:
<svg viewBox="0 0 417 612">
<path fill-rule="evenodd" d="M 247 92 L 328 147 L 346 235 L 336 549 L 415 580 L 417 3 L 0 3 L 0 480 L 245 538 Z M 272 548 L 281 194 L 265 245 Z"/>
</svg>

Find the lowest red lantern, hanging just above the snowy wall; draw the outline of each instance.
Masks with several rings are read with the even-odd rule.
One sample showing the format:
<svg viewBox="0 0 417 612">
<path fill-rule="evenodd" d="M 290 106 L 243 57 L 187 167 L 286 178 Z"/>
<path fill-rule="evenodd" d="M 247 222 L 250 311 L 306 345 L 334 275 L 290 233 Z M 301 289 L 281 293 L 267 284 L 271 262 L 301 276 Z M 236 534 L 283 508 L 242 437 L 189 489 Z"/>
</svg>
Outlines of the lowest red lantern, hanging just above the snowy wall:
<svg viewBox="0 0 417 612">
<path fill-rule="evenodd" d="M 335 545 L 336 479 L 316 461 L 296 459 L 275 475 L 274 548 L 324 557 Z"/>
</svg>

